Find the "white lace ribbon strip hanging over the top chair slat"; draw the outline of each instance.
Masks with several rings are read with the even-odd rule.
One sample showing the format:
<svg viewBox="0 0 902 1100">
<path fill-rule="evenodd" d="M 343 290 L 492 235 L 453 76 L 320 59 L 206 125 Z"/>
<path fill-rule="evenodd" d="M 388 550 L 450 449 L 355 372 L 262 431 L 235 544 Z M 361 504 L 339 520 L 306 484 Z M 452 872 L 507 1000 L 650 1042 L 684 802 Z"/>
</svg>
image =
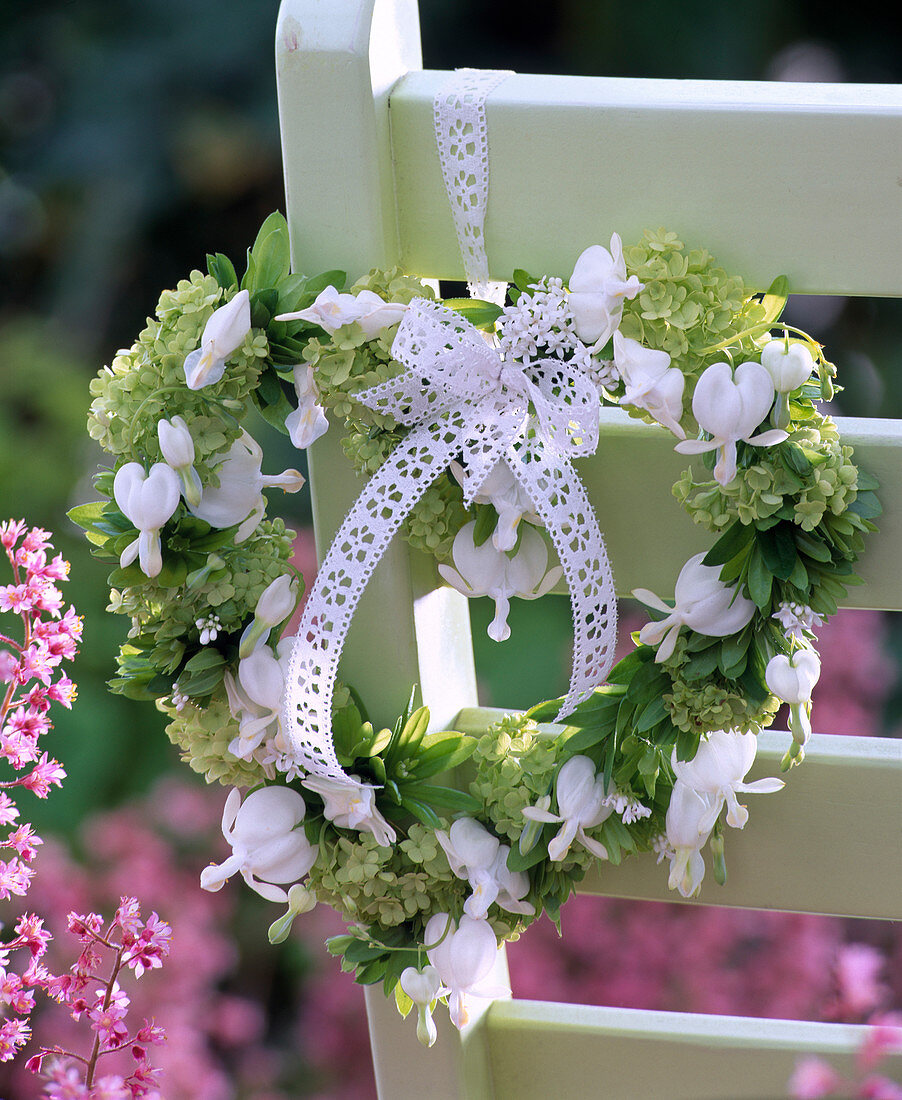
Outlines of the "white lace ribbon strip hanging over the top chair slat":
<svg viewBox="0 0 902 1100">
<path fill-rule="evenodd" d="M 488 205 L 485 101 L 508 76 L 512 73 L 506 69 L 457 69 L 432 100 L 436 145 L 470 297 L 499 305 L 507 284 L 490 282 L 485 253 Z"/>
</svg>

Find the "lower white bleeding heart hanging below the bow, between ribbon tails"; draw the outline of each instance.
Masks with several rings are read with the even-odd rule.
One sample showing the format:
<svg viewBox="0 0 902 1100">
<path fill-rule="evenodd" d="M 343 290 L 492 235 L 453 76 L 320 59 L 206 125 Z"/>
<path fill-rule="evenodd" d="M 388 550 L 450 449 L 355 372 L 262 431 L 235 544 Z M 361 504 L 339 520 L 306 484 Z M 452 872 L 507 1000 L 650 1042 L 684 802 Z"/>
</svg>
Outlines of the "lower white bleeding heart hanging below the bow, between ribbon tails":
<svg viewBox="0 0 902 1100">
<path fill-rule="evenodd" d="M 487 634 L 495 641 L 505 641 L 510 637 L 510 597 L 538 600 L 557 584 L 563 570 L 560 565 L 548 568 L 544 539 L 534 527 L 524 529 L 520 549 L 509 558 L 491 541 L 477 547 L 473 540 L 475 526 L 471 520 L 458 531 L 451 548 L 455 568 L 439 565 L 439 572 L 463 595 L 491 596 L 495 601 L 495 618 Z"/>
</svg>

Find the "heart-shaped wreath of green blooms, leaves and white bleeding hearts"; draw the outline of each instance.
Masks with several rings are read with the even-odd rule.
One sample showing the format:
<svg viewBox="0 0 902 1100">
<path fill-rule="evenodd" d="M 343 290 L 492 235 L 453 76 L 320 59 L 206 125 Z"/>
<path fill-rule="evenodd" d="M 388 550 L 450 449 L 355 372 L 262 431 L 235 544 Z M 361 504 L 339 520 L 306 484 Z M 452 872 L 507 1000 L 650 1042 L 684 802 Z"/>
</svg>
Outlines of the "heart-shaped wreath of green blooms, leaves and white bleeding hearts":
<svg viewBox="0 0 902 1100">
<path fill-rule="evenodd" d="M 72 516 L 116 563 L 112 609 L 132 620 L 112 690 L 153 700 L 190 767 L 233 787 L 222 823 L 233 854 L 201 884 L 218 890 L 240 872 L 287 902 L 274 942 L 317 901 L 333 905 L 349 927 L 329 949 L 358 981 L 383 981 L 404 1014 L 416 1005 L 431 1043 L 436 1001 L 461 1025 L 469 997 L 498 992 L 486 986 L 497 944 L 542 912 L 559 921 L 597 860 L 656 850 L 671 888 L 690 897 L 710 845 L 723 879 L 724 823 L 748 817 L 738 793 L 782 785 L 745 777 L 756 734 L 783 702 L 784 768 L 803 757 L 814 631 L 857 582 L 879 504 L 875 480 L 817 409 L 833 394 L 833 365 L 779 323 L 785 280 L 751 293 L 673 233 L 646 232 L 626 249 L 615 235 L 583 252 L 566 280 L 515 272 L 506 306 L 440 305 L 397 270 L 343 284 L 340 272 L 292 274 L 287 227 L 273 215 L 240 280 L 213 255 L 207 274 L 165 292 L 156 319 L 92 383 L 90 433 L 113 469 L 96 481 L 103 499 Z M 295 492 L 302 477 L 262 473 L 245 415 L 255 408 L 298 448 L 338 419 L 350 461 L 384 470 L 420 430 L 405 417 L 422 360 L 399 359 L 436 318 L 451 333 L 440 350 L 469 341 L 469 355 L 480 360 L 481 345 L 494 356 L 476 364 L 476 391 L 488 378 L 493 400 L 515 395 L 518 435 L 513 458 L 485 469 L 449 444 L 452 461 L 395 526 L 454 587 L 495 600 L 493 638 L 509 634 L 512 596 L 536 598 L 560 574 L 548 564 L 549 537 L 559 554 L 560 540 L 543 529 L 517 453 L 546 447 L 553 474 L 556 432 L 584 448 L 593 429 L 581 418 L 602 402 L 703 457 L 673 492 L 713 546 L 685 563 L 672 603 L 635 592 L 651 622 L 581 702 L 540 703 L 473 737 L 429 733 L 414 692 L 395 726 L 376 729 L 339 686 L 338 770 L 310 768 L 284 706 L 295 639 L 279 638 L 302 579 L 292 532 L 265 518 L 263 495 Z M 470 393 L 459 383 L 449 375 L 454 400 Z M 393 393 L 397 415 L 386 411 Z M 556 403 L 563 420 L 543 413 Z M 435 422 L 453 408 L 444 400 Z M 565 726 L 538 725 L 562 711 Z M 437 782 L 454 768 L 459 785 Z"/>
</svg>

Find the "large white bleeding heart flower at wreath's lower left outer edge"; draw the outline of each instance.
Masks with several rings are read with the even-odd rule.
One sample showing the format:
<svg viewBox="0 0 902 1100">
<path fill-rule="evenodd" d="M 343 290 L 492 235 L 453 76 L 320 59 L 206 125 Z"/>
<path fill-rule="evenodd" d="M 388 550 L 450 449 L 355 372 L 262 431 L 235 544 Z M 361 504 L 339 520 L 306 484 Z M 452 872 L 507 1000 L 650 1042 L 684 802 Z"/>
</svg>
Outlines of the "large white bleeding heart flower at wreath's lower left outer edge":
<svg viewBox="0 0 902 1100">
<path fill-rule="evenodd" d="M 241 803 L 235 788 L 222 811 L 222 835 L 232 855 L 221 864 L 206 867 L 200 875 L 204 890 L 221 890 L 235 872 L 267 901 L 287 901 L 277 882 L 295 882 L 310 870 L 318 848 L 302 828 L 304 799 L 288 787 L 263 787 Z M 262 881 L 261 881 L 262 880 Z"/>
</svg>

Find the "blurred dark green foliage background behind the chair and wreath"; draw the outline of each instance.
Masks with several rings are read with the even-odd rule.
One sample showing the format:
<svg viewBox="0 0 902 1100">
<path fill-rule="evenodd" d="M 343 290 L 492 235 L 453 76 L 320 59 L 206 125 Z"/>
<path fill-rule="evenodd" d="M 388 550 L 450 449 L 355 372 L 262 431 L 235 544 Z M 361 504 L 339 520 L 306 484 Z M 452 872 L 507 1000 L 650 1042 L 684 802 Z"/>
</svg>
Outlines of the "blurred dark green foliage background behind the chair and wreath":
<svg viewBox="0 0 902 1100">
<path fill-rule="evenodd" d="M 176 765 L 160 717 L 103 686 L 125 626 L 103 613 L 106 569 L 87 554 L 65 510 L 90 498 L 100 459 L 84 431 L 91 374 L 132 342 L 163 287 L 201 266 L 207 251 L 240 260 L 263 218 L 284 205 L 277 7 L 8 0 L 0 11 L 0 514 L 56 532 L 73 563 L 68 595 L 86 616 L 75 671 L 80 697 L 57 716 L 48 746 L 69 779 L 41 807 L 38 828 L 66 831 Z M 431 68 L 902 78 L 898 32 L 869 18 L 867 3 L 853 19 L 839 6 L 801 0 L 505 0 L 491 8 L 422 0 L 421 20 Z M 842 411 L 900 415 L 899 302 L 798 308 L 840 366 Z M 544 644 L 529 657 L 519 650 L 494 662 L 487 691 L 498 703 L 516 697 L 519 682 L 536 697 L 561 686 L 566 606 L 515 610 L 542 616 L 530 623 Z M 475 617 L 482 639 L 485 609 Z M 902 701 L 891 705 L 898 717 Z"/>
</svg>

